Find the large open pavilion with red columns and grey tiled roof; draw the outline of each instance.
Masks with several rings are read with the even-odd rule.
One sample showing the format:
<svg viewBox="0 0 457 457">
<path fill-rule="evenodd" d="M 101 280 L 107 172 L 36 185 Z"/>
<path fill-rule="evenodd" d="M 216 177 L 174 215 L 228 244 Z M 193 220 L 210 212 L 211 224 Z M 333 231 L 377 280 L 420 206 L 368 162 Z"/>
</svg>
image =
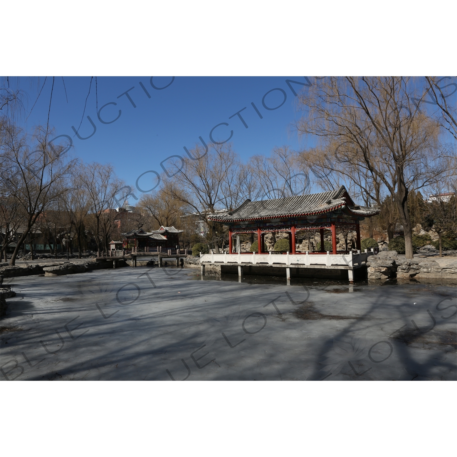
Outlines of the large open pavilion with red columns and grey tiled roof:
<svg viewBox="0 0 457 457">
<path fill-rule="evenodd" d="M 345 186 L 336 191 L 297 195 L 251 202 L 246 200 L 234 211 L 208 214 L 210 221 L 228 225 L 228 251 L 232 253 L 232 236 L 257 233 L 258 254 L 265 253 L 265 235 L 285 232 L 289 235 L 291 254 L 295 252 L 297 231 L 320 232 L 320 252 L 324 250 L 324 231 L 332 233 L 332 254 L 336 250 L 336 231 L 355 230 L 356 249 L 360 250 L 360 221 L 379 214 L 379 208 L 356 205 Z M 304 253 L 303 253 L 304 254 Z"/>
</svg>

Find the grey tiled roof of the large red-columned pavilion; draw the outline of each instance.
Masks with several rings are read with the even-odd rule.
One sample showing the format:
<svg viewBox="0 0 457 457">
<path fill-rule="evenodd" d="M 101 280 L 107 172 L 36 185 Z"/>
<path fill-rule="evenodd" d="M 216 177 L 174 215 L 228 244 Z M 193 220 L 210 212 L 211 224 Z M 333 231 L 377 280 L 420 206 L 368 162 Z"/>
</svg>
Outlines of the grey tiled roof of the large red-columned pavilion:
<svg viewBox="0 0 457 457">
<path fill-rule="evenodd" d="M 208 214 L 208 219 L 216 222 L 229 223 L 271 218 L 290 218 L 312 216 L 330 213 L 336 209 L 345 208 L 347 213 L 354 216 L 369 217 L 379 213 L 379 208 L 356 205 L 345 186 L 336 191 L 318 194 L 296 195 L 272 200 L 251 202 L 246 200 L 234 211 Z"/>
</svg>

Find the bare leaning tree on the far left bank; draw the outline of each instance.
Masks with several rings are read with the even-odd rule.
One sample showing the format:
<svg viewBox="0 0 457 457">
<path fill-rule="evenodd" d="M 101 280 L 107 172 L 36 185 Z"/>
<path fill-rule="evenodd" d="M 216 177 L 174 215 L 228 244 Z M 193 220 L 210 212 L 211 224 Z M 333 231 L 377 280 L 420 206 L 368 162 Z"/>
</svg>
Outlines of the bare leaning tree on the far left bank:
<svg viewBox="0 0 457 457">
<path fill-rule="evenodd" d="M 5 159 L 2 161 L 1 179 L 25 213 L 23 233 L 18 236 L 10 265 L 15 265 L 20 246 L 37 219 L 62 193 L 59 183 L 75 163 L 74 160 L 67 160 L 68 146 L 49 143 L 52 132 L 48 130 L 38 127 L 30 136 L 10 122 L 1 126 L 1 150 Z"/>
</svg>

